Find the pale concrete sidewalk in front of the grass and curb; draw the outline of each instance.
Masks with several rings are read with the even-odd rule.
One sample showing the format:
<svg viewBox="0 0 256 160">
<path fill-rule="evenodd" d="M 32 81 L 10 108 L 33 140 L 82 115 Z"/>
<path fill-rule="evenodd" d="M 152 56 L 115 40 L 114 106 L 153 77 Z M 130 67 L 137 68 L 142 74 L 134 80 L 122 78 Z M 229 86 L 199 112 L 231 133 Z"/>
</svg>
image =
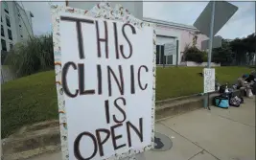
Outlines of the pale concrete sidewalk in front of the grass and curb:
<svg viewBox="0 0 256 160">
<path fill-rule="evenodd" d="M 255 160 L 255 99 L 240 107 L 198 109 L 155 125 L 173 148 L 148 151 L 146 160 Z M 60 152 L 29 160 L 60 160 Z"/>
</svg>

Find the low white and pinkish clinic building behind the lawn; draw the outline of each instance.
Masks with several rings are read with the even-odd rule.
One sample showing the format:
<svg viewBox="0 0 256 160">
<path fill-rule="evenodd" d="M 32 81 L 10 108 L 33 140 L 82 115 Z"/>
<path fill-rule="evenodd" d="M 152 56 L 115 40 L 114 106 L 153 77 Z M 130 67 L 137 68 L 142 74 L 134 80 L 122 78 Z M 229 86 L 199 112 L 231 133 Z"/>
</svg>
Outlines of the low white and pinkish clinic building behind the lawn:
<svg viewBox="0 0 256 160">
<path fill-rule="evenodd" d="M 143 20 L 156 24 L 156 64 L 159 65 L 175 65 L 176 59 L 179 65 L 187 46 L 195 44 L 201 50 L 201 42 L 208 39 L 206 35 L 200 34 L 198 29 L 193 26 L 152 18 L 143 18 Z M 164 45 L 166 43 L 176 43 L 176 41 L 178 41 L 177 54 L 164 56 Z"/>
</svg>

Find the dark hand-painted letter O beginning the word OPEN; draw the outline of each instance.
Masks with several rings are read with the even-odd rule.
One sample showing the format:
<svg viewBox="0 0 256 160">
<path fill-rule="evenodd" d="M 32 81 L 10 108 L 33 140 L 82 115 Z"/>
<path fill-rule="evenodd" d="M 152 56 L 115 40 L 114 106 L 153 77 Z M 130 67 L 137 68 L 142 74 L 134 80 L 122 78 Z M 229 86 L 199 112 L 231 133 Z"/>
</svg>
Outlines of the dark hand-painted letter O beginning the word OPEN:
<svg viewBox="0 0 256 160">
<path fill-rule="evenodd" d="M 83 157 L 81 156 L 81 152 L 80 152 L 80 142 L 81 142 L 81 137 L 82 137 L 82 136 L 88 136 L 88 137 L 90 137 L 90 138 L 92 139 L 93 144 L 94 144 L 93 153 L 92 153 L 91 156 L 88 157 L 88 158 L 83 158 Z M 94 137 L 93 134 L 84 131 L 84 132 L 82 132 L 81 134 L 79 134 L 79 136 L 75 139 L 75 142 L 74 142 L 74 155 L 75 155 L 75 157 L 76 157 L 78 160 L 90 160 L 90 159 L 92 159 L 92 158 L 96 155 L 97 150 L 98 150 L 98 148 L 97 148 L 97 140 L 96 140 L 96 138 Z"/>
</svg>

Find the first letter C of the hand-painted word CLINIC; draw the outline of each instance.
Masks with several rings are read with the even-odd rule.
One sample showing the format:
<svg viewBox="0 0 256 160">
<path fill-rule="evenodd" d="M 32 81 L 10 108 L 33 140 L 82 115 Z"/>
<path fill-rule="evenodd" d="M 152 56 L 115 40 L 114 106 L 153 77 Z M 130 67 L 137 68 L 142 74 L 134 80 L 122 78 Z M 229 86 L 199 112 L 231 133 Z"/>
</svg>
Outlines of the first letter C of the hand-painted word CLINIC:
<svg viewBox="0 0 256 160">
<path fill-rule="evenodd" d="M 75 70 L 77 69 L 76 64 L 73 61 L 68 61 L 67 63 L 64 64 L 63 68 L 62 68 L 62 87 L 63 87 L 63 91 L 64 93 L 71 98 L 75 98 L 78 96 L 79 94 L 79 90 L 76 89 L 75 94 L 72 94 L 67 86 L 67 71 L 69 69 L 69 67 L 72 66 Z"/>
</svg>

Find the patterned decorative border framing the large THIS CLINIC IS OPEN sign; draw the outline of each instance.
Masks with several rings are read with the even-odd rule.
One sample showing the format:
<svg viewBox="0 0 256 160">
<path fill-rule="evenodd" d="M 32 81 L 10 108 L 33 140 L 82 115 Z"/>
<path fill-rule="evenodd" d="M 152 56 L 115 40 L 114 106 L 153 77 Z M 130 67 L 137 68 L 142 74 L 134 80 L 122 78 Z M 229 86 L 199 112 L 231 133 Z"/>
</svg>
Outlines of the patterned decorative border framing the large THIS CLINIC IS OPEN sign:
<svg viewBox="0 0 256 160">
<path fill-rule="evenodd" d="M 95 6 L 98 11 L 84 11 L 81 9 L 74 9 L 65 6 L 58 6 L 58 5 L 51 5 L 51 16 L 52 16 L 52 31 L 53 31 L 53 41 L 54 41 L 54 57 L 55 57 L 55 72 L 56 72 L 56 86 L 57 86 L 57 93 L 58 93 L 58 117 L 59 117 L 59 129 L 60 129 L 60 141 L 61 141 L 61 152 L 62 152 L 62 159 L 69 160 L 69 151 L 68 151 L 68 141 L 67 141 L 67 121 L 66 121 L 66 109 L 65 109 L 65 102 L 63 98 L 63 90 L 61 85 L 61 48 L 60 48 L 60 34 L 59 34 L 59 12 L 70 12 L 79 15 L 86 15 L 91 16 L 92 18 L 104 18 L 109 20 L 116 20 L 116 21 L 123 21 L 134 25 L 137 28 L 143 28 L 145 26 L 149 26 L 153 28 L 153 53 L 152 53 L 152 97 L 151 97 L 151 145 L 145 147 L 144 149 L 129 149 L 127 153 L 123 154 L 115 154 L 107 160 L 112 159 L 121 159 L 128 156 L 132 156 L 137 153 L 141 153 L 145 150 L 152 149 L 154 147 L 154 115 L 155 115 L 155 74 L 156 74 L 156 64 L 155 64 L 155 55 L 156 55 L 156 34 L 155 34 L 155 24 L 143 22 L 139 19 L 133 17 L 128 10 L 124 9 L 121 5 L 116 6 L 116 9 L 108 8 L 105 10 L 106 7 L 109 5 L 107 3 L 101 3 Z M 101 7 L 103 7 L 101 9 Z M 110 10 L 109 10 L 110 9 Z M 103 11 L 105 10 L 105 11 Z M 119 14 L 113 14 L 116 12 L 114 10 L 118 10 Z M 105 16 L 109 15 L 109 17 Z"/>
</svg>

